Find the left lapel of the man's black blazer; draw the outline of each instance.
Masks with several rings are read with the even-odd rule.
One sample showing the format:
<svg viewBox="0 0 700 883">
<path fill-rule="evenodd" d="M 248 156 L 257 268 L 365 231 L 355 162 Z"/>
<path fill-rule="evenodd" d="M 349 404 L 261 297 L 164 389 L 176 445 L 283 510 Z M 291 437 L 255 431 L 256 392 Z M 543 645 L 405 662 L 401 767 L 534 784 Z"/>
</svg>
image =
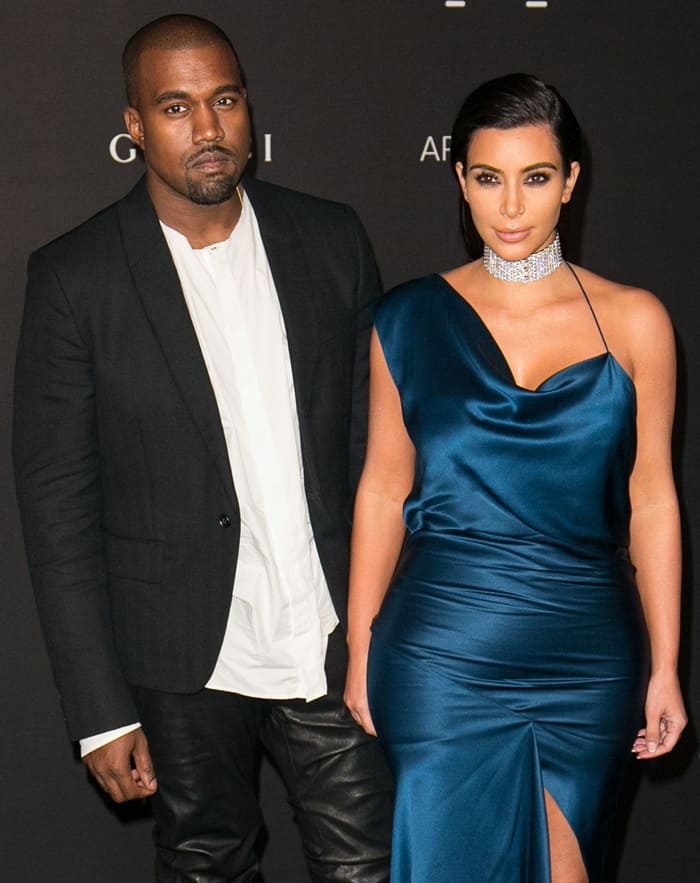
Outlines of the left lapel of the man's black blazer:
<svg viewBox="0 0 700 883">
<path fill-rule="evenodd" d="M 119 203 L 119 220 L 129 268 L 153 333 L 231 503 L 236 506 L 216 398 L 145 179 Z"/>
</svg>

